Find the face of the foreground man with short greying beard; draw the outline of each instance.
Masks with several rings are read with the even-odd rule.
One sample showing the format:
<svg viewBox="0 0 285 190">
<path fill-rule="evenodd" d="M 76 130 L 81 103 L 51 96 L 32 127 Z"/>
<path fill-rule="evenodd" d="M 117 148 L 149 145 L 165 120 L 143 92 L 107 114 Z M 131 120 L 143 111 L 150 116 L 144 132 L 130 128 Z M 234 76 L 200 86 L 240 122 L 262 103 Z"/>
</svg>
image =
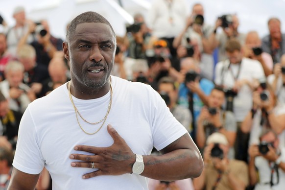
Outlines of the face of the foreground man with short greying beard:
<svg viewBox="0 0 285 190">
<path fill-rule="evenodd" d="M 103 87 L 114 65 L 115 50 L 116 38 L 110 26 L 101 23 L 78 24 L 73 38 L 64 44 L 72 80 L 82 87 Z"/>
</svg>

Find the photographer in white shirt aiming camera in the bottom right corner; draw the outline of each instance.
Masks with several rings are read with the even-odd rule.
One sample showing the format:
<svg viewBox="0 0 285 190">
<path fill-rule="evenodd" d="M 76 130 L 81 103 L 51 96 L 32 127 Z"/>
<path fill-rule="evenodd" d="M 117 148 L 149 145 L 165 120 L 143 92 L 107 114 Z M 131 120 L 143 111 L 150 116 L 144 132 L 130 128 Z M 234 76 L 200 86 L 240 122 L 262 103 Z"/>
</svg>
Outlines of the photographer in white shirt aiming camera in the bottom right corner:
<svg viewBox="0 0 285 190">
<path fill-rule="evenodd" d="M 249 147 L 250 185 L 255 190 L 285 189 L 285 148 L 271 129 L 261 132 L 260 143 Z"/>
</svg>

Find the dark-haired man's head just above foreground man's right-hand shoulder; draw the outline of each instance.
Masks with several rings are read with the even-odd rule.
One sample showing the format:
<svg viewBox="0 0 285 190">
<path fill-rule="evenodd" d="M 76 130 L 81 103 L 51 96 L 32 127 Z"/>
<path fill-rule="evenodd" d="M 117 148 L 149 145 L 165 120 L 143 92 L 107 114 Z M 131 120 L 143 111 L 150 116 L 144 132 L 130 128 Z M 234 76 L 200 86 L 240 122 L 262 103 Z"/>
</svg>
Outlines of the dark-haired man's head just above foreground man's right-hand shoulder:
<svg viewBox="0 0 285 190">
<path fill-rule="evenodd" d="M 174 104 L 177 101 L 177 90 L 175 87 L 174 80 L 169 76 L 161 78 L 158 82 L 158 92 L 160 94 L 165 93 L 169 96 L 170 104 L 167 106 L 169 108 L 173 108 Z"/>
</svg>

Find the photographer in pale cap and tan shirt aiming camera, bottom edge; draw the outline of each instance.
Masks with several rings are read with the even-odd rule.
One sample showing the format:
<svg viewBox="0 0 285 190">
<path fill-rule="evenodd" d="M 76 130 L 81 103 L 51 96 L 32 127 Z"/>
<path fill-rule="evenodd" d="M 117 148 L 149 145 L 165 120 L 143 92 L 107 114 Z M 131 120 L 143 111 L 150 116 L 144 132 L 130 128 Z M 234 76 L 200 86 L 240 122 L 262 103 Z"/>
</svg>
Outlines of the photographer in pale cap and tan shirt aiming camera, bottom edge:
<svg viewBox="0 0 285 190">
<path fill-rule="evenodd" d="M 193 179 L 195 190 L 245 190 L 249 183 L 248 167 L 243 161 L 228 158 L 229 143 L 215 132 L 204 149 L 204 170 Z"/>
</svg>

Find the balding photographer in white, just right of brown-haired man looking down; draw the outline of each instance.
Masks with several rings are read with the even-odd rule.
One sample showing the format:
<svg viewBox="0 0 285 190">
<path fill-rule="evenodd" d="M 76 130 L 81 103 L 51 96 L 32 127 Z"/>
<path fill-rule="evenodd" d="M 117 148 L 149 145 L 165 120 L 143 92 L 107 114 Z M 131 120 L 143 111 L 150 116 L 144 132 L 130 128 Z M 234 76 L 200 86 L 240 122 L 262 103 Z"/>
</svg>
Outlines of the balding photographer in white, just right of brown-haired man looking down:
<svg viewBox="0 0 285 190">
<path fill-rule="evenodd" d="M 269 53 L 263 52 L 261 48 L 261 39 L 257 31 L 250 31 L 246 34 L 245 44 L 243 46 L 243 56 L 258 60 L 261 63 L 265 76 L 272 74 L 273 60 Z"/>
</svg>

